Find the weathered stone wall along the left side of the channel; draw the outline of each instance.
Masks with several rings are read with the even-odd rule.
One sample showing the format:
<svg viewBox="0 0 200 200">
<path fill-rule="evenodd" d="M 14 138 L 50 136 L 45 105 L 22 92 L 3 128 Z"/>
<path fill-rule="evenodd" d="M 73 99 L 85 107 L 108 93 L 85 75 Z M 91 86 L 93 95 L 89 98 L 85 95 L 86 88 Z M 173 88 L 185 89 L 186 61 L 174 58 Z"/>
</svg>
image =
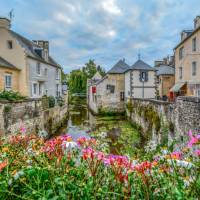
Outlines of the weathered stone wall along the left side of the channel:
<svg viewBox="0 0 200 200">
<path fill-rule="evenodd" d="M 67 104 L 47 108 L 42 99 L 29 99 L 20 102 L 0 102 L 0 135 L 13 134 L 20 126 L 28 132 L 46 130 L 53 134 L 68 116 Z"/>
</svg>

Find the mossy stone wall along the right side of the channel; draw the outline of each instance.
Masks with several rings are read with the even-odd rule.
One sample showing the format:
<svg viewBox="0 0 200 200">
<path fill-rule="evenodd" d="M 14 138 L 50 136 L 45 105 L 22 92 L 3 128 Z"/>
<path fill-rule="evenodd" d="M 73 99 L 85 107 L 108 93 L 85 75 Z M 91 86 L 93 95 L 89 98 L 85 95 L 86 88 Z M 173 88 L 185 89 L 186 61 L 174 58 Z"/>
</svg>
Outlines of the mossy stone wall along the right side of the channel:
<svg viewBox="0 0 200 200">
<path fill-rule="evenodd" d="M 189 130 L 200 131 L 200 98 L 178 97 L 176 102 L 132 98 L 126 106 L 131 121 L 139 125 L 146 137 L 160 142 L 182 137 Z"/>
</svg>

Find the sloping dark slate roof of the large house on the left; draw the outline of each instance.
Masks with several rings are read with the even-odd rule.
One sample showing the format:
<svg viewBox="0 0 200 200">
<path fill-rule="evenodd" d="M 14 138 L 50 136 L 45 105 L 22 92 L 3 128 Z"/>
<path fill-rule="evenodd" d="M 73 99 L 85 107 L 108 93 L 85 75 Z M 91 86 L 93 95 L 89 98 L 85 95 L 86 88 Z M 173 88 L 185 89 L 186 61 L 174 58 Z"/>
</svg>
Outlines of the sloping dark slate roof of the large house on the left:
<svg viewBox="0 0 200 200">
<path fill-rule="evenodd" d="M 41 62 L 53 65 L 55 67 L 59 67 L 60 65 L 58 63 L 55 62 L 55 60 L 49 56 L 48 61 L 44 60 L 42 57 L 40 57 L 35 51 L 34 48 L 40 48 L 37 44 L 35 44 L 33 41 L 23 37 L 22 35 L 19 35 L 18 33 L 9 30 L 10 33 L 12 34 L 13 37 L 15 37 L 17 39 L 17 41 L 22 45 L 22 47 L 25 48 L 26 53 L 29 57 L 32 57 L 36 60 L 39 60 Z"/>
</svg>

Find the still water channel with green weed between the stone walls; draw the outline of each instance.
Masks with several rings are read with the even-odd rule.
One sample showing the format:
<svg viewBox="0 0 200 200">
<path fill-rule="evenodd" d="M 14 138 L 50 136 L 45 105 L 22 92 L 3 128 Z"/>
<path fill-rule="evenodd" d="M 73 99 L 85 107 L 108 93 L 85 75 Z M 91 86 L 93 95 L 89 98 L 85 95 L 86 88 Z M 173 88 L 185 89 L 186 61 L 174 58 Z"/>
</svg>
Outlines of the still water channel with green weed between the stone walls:
<svg viewBox="0 0 200 200">
<path fill-rule="evenodd" d="M 94 137 L 102 148 L 112 154 L 132 154 L 141 148 L 143 139 L 126 116 L 94 116 L 86 101 L 75 101 L 69 106 L 69 118 L 59 134 L 69 134 L 73 140 Z"/>
</svg>

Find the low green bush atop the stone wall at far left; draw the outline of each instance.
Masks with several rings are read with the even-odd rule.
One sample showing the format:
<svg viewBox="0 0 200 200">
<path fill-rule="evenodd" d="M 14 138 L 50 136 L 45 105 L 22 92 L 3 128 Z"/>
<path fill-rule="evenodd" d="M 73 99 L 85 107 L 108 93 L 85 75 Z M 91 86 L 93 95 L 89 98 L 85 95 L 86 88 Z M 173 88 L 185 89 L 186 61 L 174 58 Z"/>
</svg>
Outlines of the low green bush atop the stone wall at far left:
<svg viewBox="0 0 200 200">
<path fill-rule="evenodd" d="M 18 101 L 18 100 L 24 100 L 24 99 L 26 99 L 26 97 L 12 90 L 10 91 L 3 90 L 0 92 L 0 100 Z"/>
</svg>

